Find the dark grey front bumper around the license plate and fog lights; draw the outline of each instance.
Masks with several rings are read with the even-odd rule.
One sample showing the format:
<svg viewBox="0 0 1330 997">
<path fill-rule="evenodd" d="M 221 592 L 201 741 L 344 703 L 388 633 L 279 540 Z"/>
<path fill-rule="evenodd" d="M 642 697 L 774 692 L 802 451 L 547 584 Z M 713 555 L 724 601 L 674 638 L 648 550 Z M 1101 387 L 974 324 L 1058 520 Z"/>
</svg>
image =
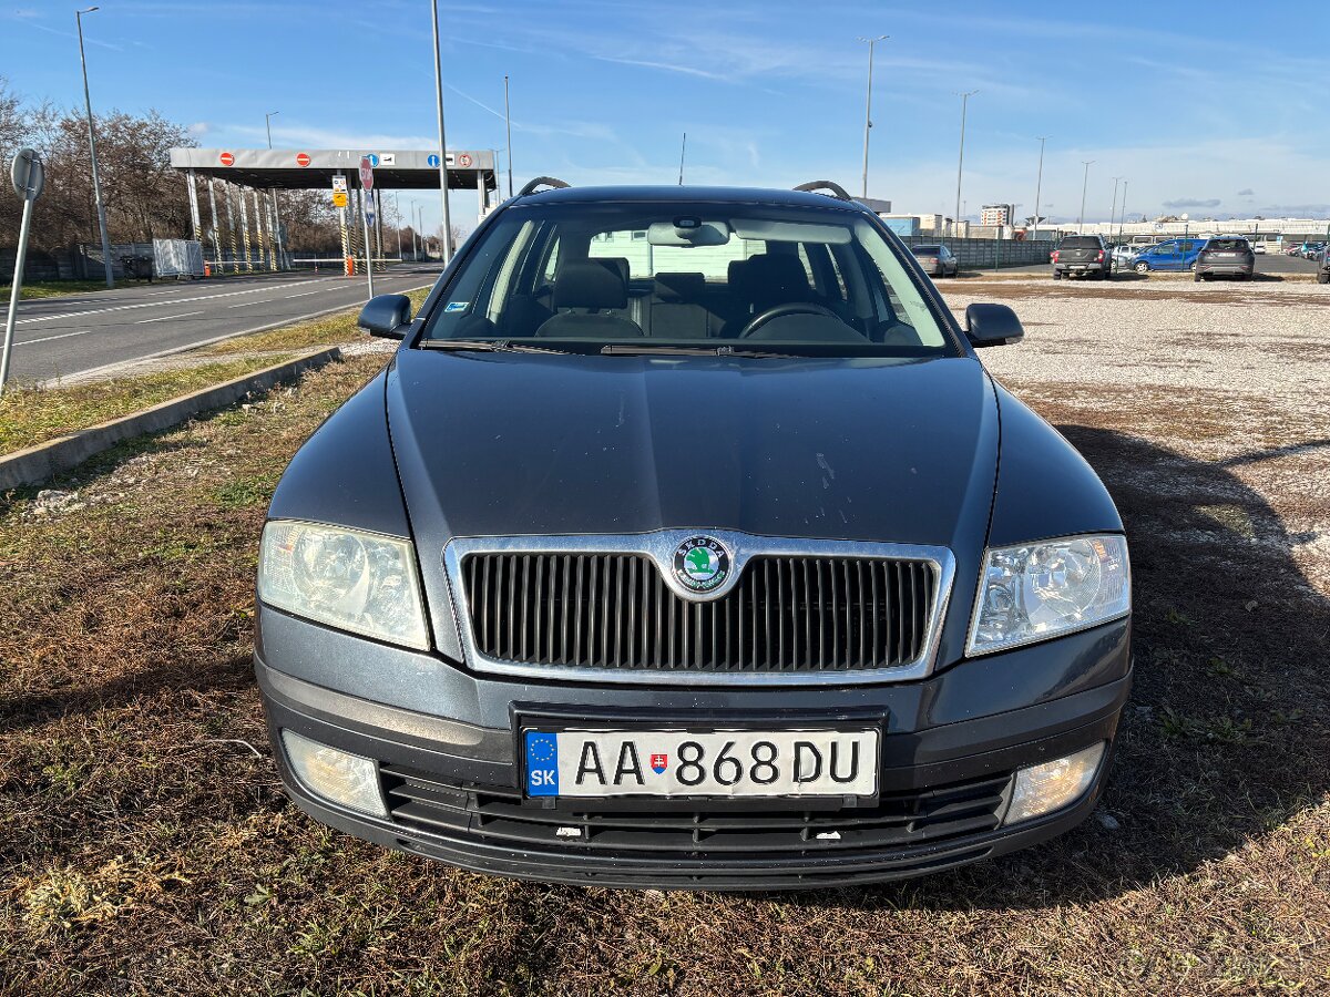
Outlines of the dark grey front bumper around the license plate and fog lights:
<svg viewBox="0 0 1330 997">
<path fill-rule="evenodd" d="M 1107 758 L 1087 794 L 1069 807 L 1012 827 L 1000 823 L 1016 768 L 1097 742 L 1112 746 L 1130 686 L 1130 626 L 1121 619 L 898 686 L 626 690 L 504 683 L 448 665 L 462 671 L 471 694 L 456 699 L 454 709 L 430 714 L 382 702 L 392 695 L 391 682 L 378 686 L 382 695 L 375 701 L 290 674 L 287 667 L 310 666 L 281 653 L 293 647 L 291 627 L 321 638 L 329 631 L 271 610 L 262 614 L 255 671 L 282 782 L 302 810 L 388 848 L 479 872 L 560 883 L 831 887 L 1004 855 L 1069 830 L 1095 807 Z M 283 631 L 281 639 L 274 631 Z M 360 645 L 366 671 L 386 650 L 347 635 L 335 639 Z M 317 654 L 315 643 L 306 645 L 307 654 Z M 279 659 L 282 670 L 275 667 Z M 383 670 L 391 673 L 391 662 Z M 416 673 L 418 683 L 428 682 L 420 678 Z M 501 718 L 471 722 L 500 705 Z M 726 719 L 770 718 L 779 724 L 876 718 L 883 724 L 880 799 L 875 806 L 823 804 L 829 808 L 811 811 L 803 810 L 806 804 L 775 810 L 779 804 L 771 802 L 573 807 L 525 800 L 512 718 L 519 711 L 568 710 L 588 720 L 630 717 L 712 727 Z M 283 728 L 376 760 L 388 818 L 356 814 L 310 794 L 281 748 Z M 583 833 L 560 836 L 568 828 Z"/>
</svg>

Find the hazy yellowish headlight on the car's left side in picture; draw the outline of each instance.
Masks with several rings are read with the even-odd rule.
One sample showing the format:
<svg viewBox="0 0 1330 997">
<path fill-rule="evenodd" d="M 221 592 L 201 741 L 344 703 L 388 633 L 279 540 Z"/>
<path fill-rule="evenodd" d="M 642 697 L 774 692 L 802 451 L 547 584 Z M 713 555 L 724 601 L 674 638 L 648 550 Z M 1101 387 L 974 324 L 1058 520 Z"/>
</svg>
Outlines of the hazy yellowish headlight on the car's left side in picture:
<svg viewBox="0 0 1330 997">
<path fill-rule="evenodd" d="M 430 649 L 410 541 L 274 520 L 259 545 L 258 597 L 295 615 Z"/>
</svg>

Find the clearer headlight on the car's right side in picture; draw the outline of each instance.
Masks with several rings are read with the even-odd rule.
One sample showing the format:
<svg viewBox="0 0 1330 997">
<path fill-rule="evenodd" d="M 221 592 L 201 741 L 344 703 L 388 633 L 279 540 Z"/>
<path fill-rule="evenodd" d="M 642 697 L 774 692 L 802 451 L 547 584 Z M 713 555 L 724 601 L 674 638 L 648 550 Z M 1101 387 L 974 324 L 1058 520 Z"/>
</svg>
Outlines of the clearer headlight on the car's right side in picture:
<svg viewBox="0 0 1330 997">
<path fill-rule="evenodd" d="M 967 654 L 1016 647 L 1125 615 L 1127 538 L 1064 537 L 984 553 Z"/>
</svg>

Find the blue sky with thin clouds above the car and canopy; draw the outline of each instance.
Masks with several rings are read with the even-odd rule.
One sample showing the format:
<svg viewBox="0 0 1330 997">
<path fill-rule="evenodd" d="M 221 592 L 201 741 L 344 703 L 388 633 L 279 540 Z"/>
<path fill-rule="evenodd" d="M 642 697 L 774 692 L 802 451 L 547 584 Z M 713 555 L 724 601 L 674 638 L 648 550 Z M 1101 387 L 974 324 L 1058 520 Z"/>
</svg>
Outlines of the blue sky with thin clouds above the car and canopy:
<svg viewBox="0 0 1330 997">
<path fill-rule="evenodd" d="M 31 98 L 81 100 L 74 5 L 0 0 L 0 73 Z M 102 0 L 85 17 L 98 110 L 156 108 L 203 146 L 430 148 L 428 0 Z M 591 3 L 440 0 L 448 146 L 501 148 L 512 78 L 515 175 L 666 182 L 688 132 L 690 183 L 858 193 L 867 52 L 868 193 L 902 211 L 962 197 L 1107 218 L 1113 177 L 1150 217 L 1330 217 L 1330 4 Z M 504 154 L 500 153 L 500 162 Z M 1121 190 L 1121 189 L 1119 189 Z M 456 197 L 456 195 L 455 195 Z M 438 197 L 416 193 L 438 221 Z M 473 197 L 456 197 L 463 221 Z M 431 215 L 427 215 L 427 222 Z"/>
</svg>

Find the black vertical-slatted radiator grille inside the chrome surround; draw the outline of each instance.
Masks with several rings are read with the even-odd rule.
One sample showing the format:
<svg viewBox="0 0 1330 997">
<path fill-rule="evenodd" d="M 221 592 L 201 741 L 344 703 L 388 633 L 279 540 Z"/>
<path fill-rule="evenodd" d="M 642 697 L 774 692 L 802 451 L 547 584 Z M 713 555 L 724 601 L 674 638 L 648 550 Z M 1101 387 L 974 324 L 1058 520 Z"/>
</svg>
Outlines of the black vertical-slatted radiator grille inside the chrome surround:
<svg viewBox="0 0 1330 997">
<path fill-rule="evenodd" d="M 618 671 L 900 667 L 924 654 L 939 589 L 927 560 L 826 554 L 754 553 L 709 602 L 630 552 L 476 552 L 460 576 L 480 654 Z"/>
</svg>

